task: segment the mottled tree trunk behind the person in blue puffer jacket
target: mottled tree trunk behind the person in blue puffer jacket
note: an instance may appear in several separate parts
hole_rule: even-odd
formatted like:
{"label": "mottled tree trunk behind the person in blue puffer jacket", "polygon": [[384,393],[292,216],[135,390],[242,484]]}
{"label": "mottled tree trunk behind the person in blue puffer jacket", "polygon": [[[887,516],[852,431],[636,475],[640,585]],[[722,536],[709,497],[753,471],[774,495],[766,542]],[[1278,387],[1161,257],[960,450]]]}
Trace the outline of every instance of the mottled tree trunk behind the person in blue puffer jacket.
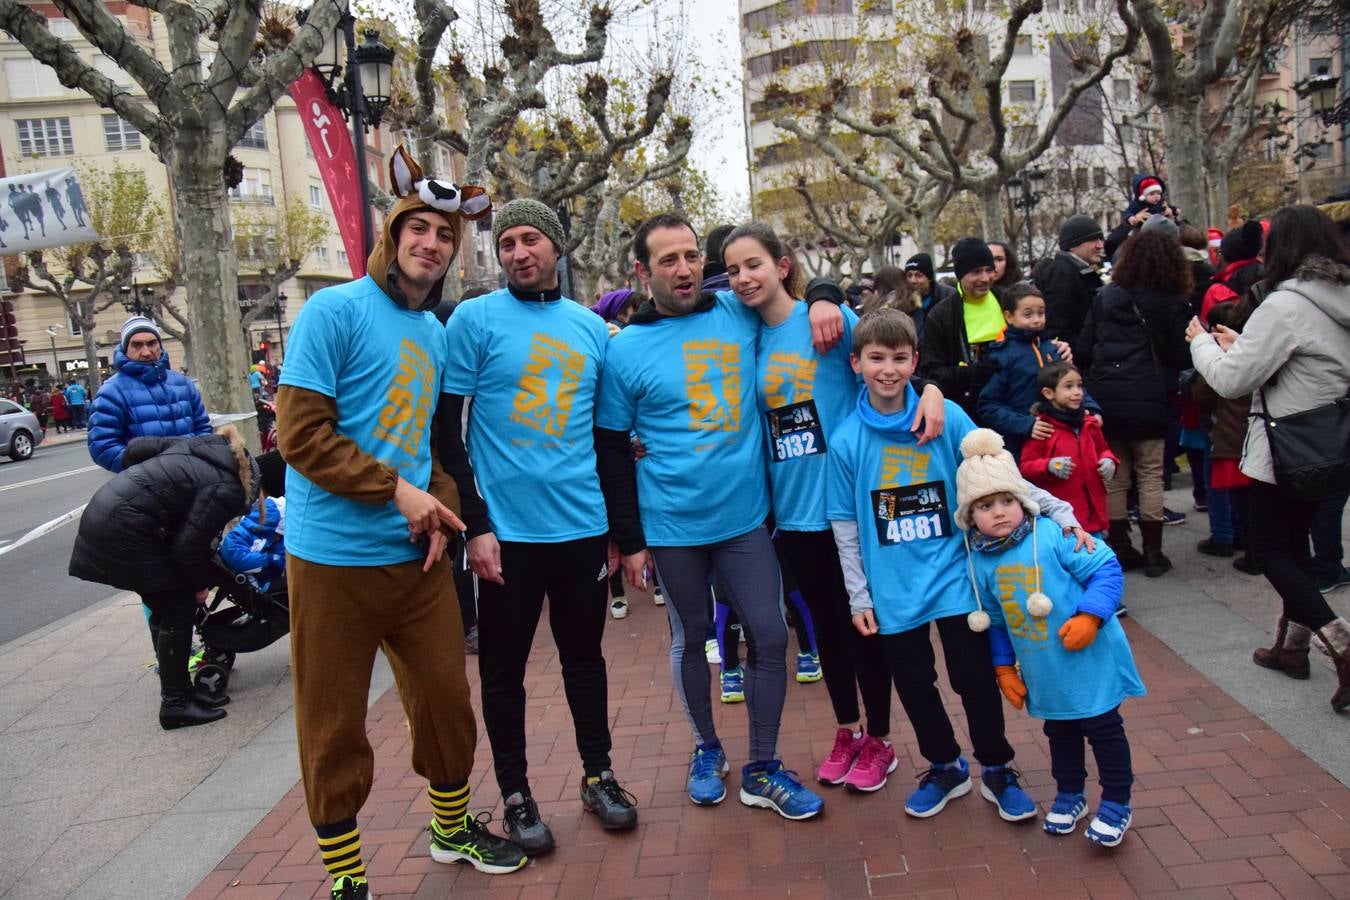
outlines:
{"label": "mottled tree trunk behind the person in blue puffer jacket", "polygon": [[[221,177],[224,123],[211,123],[209,135],[182,135],[166,151],[173,173],[173,204],[188,322],[193,336],[192,374],[211,413],[252,410],[248,352],[239,328],[239,271],[230,228],[230,197]],[[250,447],[258,447],[258,422],[239,422]]]}

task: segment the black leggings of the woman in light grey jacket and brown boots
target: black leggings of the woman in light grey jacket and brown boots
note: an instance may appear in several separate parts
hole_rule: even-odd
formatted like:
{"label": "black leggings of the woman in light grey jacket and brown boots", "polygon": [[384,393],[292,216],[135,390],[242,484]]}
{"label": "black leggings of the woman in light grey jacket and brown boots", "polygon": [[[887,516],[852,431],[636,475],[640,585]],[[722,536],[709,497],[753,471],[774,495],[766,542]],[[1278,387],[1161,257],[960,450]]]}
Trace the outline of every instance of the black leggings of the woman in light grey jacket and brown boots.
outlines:
{"label": "black leggings of the woman in light grey jacket and brown boots", "polygon": [[1336,618],[1312,575],[1308,536],[1316,501],[1300,501],[1278,484],[1251,482],[1247,549],[1284,600],[1284,615],[1318,630]]}

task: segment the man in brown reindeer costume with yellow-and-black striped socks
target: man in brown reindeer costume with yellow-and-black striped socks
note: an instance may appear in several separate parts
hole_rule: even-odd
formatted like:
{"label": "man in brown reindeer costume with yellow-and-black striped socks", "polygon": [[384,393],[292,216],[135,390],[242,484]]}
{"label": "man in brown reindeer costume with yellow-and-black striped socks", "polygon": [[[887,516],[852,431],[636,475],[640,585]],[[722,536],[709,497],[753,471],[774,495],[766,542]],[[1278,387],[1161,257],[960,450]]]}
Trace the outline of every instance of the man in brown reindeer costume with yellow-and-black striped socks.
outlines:
{"label": "man in brown reindeer costume with yellow-and-black striped socks", "polygon": [[366,702],[375,649],[398,683],[413,769],[429,784],[431,855],[487,873],[525,865],[516,845],[468,814],[477,726],[463,629],[443,559],[463,524],[455,483],[432,449],[446,390],[444,332],[431,309],[464,220],[491,204],[479,188],[424,178],[398,148],[400,200],[369,274],[305,304],[277,394],[286,479],[286,556],[296,731],[309,819],[332,896],[367,897],[356,812],[374,753]]}

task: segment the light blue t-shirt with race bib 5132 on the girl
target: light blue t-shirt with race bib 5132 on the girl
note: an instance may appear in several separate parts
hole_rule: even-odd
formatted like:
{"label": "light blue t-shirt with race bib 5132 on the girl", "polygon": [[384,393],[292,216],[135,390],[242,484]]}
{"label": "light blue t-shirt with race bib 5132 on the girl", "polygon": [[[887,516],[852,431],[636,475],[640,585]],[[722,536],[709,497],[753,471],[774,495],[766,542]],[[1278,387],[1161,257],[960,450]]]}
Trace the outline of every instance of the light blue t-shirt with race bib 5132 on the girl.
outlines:
{"label": "light blue t-shirt with race bib 5132 on the girl", "polygon": [[857,402],[849,366],[857,313],[844,313],[844,339],[824,356],[811,347],[806,304],[778,325],[760,325],[756,385],[768,447],[774,519],[788,532],[828,532],[825,456],[829,433]]}

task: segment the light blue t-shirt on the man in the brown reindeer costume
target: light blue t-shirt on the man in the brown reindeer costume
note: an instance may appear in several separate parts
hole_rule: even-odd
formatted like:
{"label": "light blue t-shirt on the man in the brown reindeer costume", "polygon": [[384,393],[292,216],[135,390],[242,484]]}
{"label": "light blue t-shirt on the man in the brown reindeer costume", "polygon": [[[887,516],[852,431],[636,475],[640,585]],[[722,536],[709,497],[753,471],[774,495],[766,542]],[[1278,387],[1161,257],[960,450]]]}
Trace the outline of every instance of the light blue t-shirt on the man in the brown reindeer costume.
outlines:
{"label": "light blue t-shirt on the man in the brown reindeer costume", "polygon": [[[292,325],[281,383],[338,401],[338,433],[413,487],[431,484],[432,413],[446,336],[429,312],[397,305],[369,275],[310,297]],[[393,565],[420,559],[408,519],[329,494],[286,471],[286,549],[323,565]]]}

